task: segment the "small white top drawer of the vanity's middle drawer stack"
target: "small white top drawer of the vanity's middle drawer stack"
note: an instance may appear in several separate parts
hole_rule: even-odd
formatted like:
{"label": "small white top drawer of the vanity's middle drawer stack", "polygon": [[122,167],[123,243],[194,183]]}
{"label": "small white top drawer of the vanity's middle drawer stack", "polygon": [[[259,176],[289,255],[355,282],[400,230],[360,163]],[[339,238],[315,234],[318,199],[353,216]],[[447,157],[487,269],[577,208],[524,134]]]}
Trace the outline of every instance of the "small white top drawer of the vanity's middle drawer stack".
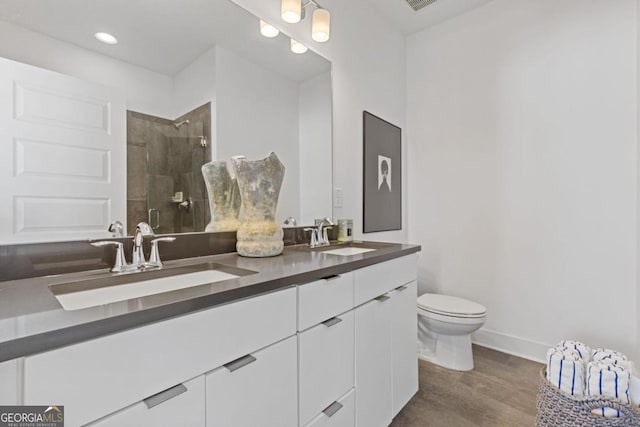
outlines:
{"label": "small white top drawer of the vanity's middle drawer stack", "polygon": [[298,286],[298,330],[353,308],[353,273]]}

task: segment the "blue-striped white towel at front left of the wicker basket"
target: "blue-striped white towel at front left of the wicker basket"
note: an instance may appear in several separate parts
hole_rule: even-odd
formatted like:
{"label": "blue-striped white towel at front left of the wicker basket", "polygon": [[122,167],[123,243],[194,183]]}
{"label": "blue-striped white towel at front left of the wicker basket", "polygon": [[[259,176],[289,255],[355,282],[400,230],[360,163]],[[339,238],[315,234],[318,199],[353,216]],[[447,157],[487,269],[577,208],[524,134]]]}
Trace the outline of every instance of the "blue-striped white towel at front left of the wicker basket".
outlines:
{"label": "blue-striped white towel at front left of the wicker basket", "polygon": [[570,349],[550,348],[547,351],[547,380],[572,396],[584,395],[584,362]]}

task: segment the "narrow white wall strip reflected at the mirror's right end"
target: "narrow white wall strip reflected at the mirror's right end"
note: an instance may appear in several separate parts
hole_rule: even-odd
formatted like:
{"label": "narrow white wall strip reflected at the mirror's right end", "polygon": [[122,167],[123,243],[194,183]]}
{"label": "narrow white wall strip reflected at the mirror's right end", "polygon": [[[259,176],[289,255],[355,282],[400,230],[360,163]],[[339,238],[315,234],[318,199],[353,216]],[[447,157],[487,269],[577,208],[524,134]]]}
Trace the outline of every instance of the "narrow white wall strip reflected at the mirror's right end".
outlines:
{"label": "narrow white wall strip reflected at the mirror's right end", "polygon": [[[325,73],[298,87],[300,116],[300,217],[313,224],[331,216],[331,74]],[[329,185],[324,185],[328,183]]]}

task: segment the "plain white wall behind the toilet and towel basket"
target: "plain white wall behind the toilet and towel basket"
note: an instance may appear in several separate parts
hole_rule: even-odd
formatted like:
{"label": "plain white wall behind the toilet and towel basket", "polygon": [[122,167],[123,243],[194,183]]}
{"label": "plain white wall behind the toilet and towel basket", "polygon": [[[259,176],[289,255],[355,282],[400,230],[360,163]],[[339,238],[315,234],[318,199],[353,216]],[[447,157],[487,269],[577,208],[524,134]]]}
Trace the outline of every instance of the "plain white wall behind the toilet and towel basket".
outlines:
{"label": "plain white wall behind the toilet and towel basket", "polygon": [[636,0],[495,0],[407,40],[421,291],[488,309],[480,343],[634,354]]}

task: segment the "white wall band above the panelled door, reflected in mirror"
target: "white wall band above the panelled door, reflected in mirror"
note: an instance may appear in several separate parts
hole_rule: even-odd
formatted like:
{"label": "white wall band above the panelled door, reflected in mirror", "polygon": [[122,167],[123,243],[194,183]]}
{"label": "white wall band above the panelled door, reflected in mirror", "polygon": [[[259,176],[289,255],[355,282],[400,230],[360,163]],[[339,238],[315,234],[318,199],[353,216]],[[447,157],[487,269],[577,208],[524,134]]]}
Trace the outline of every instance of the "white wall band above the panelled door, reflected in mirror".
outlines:
{"label": "white wall band above the panelled door, reflected in mirror", "polygon": [[122,89],[127,109],[171,117],[173,79],[0,21],[0,57]]}

